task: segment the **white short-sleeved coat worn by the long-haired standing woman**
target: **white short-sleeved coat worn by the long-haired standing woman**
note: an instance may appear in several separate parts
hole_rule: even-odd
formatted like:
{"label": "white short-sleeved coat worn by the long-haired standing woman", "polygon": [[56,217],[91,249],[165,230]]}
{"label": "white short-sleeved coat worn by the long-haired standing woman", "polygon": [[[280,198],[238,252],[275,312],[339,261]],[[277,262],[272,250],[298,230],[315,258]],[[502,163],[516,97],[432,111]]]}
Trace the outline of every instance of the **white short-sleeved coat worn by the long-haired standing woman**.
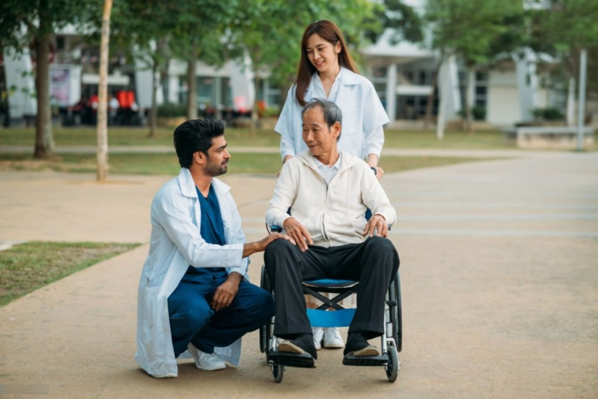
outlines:
{"label": "white short-sleeved coat worn by the long-haired standing woman", "polygon": [[[330,98],[343,113],[339,151],[361,159],[371,153],[380,158],[384,144],[382,127],[389,122],[386,111],[370,80],[344,67],[341,69],[339,91],[334,98]],[[284,107],[274,128],[281,135],[280,155],[283,160],[286,155],[295,156],[307,149],[303,142],[303,107],[297,103],[295,87],[296,85],[292,85],[288,90]],[[306,90],[305,100],[309,102],[313,97],[312,79]]]}

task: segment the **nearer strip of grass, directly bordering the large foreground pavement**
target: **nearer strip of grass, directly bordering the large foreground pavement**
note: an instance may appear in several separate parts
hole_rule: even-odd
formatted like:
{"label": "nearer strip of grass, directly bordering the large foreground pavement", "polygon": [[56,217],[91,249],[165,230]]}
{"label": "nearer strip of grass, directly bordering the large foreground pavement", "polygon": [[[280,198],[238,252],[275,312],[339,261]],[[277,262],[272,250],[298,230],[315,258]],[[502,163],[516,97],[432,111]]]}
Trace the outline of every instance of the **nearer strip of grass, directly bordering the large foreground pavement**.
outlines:
{"label": "nearer strip of grass, directly bordering the large foreground pavement", "polygon": [[[427,156],[383,157],[380,166],[385,173],[408,169],[475,162],[489,158],[451,158]],[[133,153],[109,155],[110,173],[141,175],[176,175],[180,170],[176,155],[165,153]],[[278,154],[237,153],[228,165],[228,173],[274,174],[281,167]],[[61,155],[51,160],[32,160],[26,154],[0,154],[0,171],[61,171],[95,173],[95,155]]]}

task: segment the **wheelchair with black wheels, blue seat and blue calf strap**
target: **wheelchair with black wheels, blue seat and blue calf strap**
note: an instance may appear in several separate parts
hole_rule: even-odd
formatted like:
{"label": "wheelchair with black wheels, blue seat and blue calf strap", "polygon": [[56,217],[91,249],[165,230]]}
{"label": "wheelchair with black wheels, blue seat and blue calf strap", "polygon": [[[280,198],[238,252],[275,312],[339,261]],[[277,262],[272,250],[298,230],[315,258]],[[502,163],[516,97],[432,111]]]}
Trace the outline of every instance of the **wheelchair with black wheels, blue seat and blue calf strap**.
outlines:
{"label": "wheelchair with black wheels, blue seat and blue calf strap", "polygon": [[[303,281],[303,294],[310,294],[323,304],[317,309],[308,309],[308,318],[313,327],[348,327],[353,319],[355,309],[345,309],[341,301],[356,292],[358,281],[321,279],[317,281]],[[266,266],[261,267],[261,288],[273,294],[268,279]],[[337,294],[328,298],[323,293]],[[329,308],[334,311],[328,311]],[[275,382],[281,382],[285,367],[311,367],[306,361],[309,355],[288,354],[277,352],[277,337],[273,334],[274,317],[259,329],[259,345],[261,353],[266,354],[266,361],[274,376]],[[348,366],[384,366],[389,382],[396,381],[401,363],[398,352],[402,345],[401,320],[401,277],[397,271],[392,279],[385,301],[385,329],[381,336],[380,356],[345,356],[343,365]]]}

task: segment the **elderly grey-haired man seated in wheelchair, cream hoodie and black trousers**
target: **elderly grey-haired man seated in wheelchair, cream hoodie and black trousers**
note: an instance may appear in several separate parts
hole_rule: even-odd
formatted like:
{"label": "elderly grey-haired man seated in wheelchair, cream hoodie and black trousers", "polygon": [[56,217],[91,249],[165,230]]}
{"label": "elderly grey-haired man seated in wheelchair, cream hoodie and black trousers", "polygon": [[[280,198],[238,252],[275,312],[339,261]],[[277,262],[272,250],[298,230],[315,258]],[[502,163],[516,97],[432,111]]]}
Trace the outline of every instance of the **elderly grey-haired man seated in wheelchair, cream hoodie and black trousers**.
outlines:
{"label": "elderly grey-haired man seated in wheelchair, cream hoodie and black trousers", "polygon": [[[387,291],[399,266],[398,253],[386,238],[396,213],[370,166],[339,151],[341,118],[328,100],[306,105],[302,120],[308,150],[284,164],[266,213],[268,225],[281,226],[295,240],[295,245],[273,241],[264,252],[266,283],[275,294],[273,334],[281,365],[314,367],[317,351],[302,283],[319,279],[359,282],[345,360],[381,355],[368,340],[385,333]],[[366,220],[368,208],[372,217]]]}

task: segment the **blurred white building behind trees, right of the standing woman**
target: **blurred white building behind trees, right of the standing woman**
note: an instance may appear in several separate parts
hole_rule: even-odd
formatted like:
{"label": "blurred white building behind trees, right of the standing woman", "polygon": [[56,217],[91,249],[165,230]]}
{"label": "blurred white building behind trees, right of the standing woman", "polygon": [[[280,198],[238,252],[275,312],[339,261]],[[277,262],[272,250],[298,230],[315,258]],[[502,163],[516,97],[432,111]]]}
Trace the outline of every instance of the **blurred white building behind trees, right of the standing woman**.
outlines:
{"label": "blurred white building behind trees, right of the standing woman", "polygon": [[[425,0],[407,0],[406,3],[423,14]],[[361,50],[368,74],[392,121],[423,119],[433,90],[438,53],[407,41],[391,45],[390,34],[385,32],[377,43]],[[512,126],[533,120],[531,111],[536,108],[557,107],[565,114],[566,87],[550,87],[548,75],[537,72],[539,61],[552,62],[540,60],[533,52],[526,51],[520,59],[509,57],[500,67],[480,69],[468,76],[458,61],[450,58],[442,65],[437,86],[438,91],[447,90],[446,119],[460,118],[459,112],[466,107],[468,79],[469,108],[484,108],[485,120],[491,125]],[[433,115],[438,114],[438,98],[436,95]]]}

